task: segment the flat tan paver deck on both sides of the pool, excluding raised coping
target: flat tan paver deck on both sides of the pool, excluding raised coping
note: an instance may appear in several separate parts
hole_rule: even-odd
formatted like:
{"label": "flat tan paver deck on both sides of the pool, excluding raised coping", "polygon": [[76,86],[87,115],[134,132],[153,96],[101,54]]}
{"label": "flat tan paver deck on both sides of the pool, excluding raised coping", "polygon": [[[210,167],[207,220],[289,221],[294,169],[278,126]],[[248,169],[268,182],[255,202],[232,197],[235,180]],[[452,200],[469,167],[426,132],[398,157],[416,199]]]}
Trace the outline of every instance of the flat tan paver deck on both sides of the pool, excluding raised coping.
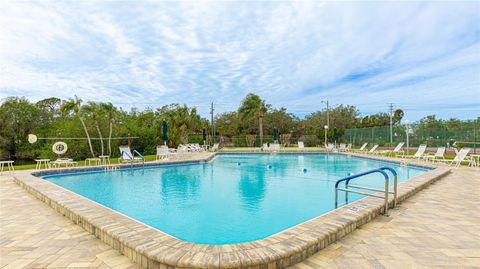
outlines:
{"label": "flat tan paver deck on both sides of the pool, excluding raised coping", "polygon": [[[480,268],[480,170],[458,169],[294,268]],[[138,268],[0,177],[0,267]]]}

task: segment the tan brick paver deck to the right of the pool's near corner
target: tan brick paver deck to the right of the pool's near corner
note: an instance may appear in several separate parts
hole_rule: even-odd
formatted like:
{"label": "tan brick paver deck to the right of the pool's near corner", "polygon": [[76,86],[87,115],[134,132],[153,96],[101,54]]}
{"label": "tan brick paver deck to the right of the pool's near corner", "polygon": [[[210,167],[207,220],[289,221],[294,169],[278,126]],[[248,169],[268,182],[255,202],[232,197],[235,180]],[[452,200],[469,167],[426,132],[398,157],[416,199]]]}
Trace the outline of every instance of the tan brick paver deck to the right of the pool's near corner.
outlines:
{"label": "tan brick paver deck to the right of the pool's near corner", "polygon": [[480,268],[480,170],[454,169],[291,268]]}

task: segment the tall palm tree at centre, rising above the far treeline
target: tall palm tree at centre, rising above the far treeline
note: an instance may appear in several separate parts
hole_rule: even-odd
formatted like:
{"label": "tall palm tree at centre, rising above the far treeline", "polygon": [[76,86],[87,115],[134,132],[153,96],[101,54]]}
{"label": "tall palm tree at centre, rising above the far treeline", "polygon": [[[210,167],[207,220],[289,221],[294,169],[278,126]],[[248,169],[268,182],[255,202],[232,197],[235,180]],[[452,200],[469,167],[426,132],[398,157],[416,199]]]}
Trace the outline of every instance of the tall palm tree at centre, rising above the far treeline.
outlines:
{"label": "tall palm tree at centre, rising above the far treeline", "polygon": [[258,118],[258,132],[260,135],[260,145],[263,144],[263,118],[267,113],[269,105],[265,104],[265,100],[262,100],[260,96],[249,93],[243,99],[240,108],[238,109],[238,114],[242,121],[245,121],[248,118]]}

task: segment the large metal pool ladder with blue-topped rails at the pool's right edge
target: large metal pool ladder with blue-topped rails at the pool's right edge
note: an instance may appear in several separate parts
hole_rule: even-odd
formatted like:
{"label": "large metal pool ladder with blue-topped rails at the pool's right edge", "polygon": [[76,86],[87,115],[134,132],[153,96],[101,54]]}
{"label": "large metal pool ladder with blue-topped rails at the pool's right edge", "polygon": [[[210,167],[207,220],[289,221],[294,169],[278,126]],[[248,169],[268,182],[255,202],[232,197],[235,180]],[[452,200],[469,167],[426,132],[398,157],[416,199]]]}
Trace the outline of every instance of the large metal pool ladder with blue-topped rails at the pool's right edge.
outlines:
{"label": "large metal pool ladder with blue-topped rails at the pool's right edge", "polygon": [[[385,170],[387,171],[390,171],[393,175],[393,191],[389,191],[389,187],[390,187],[390,178],[388,176],[388,174],[385,172]],[[365,186],[360,186],[360,185],[353,185],[353,184],[350,184],[350,181],[355,179],[355,178],[359,178],[359,177],[362,177],[362,176],[366,176],[366,175],[370,175],[370,174],[374,174],[374,173],[379,173],[379,174],[382,174],[383,175],[383,178],[385,179],[385,188],[382,190],[382,189],[376,189],[376,188],[370,188],[370,187],[365,187]],[[395,207],[397,205],[397,192],[398,192],[398,188],[397,188],[397,179],[398,179],[398,176],[397,176],[397,172],[393,169],[393,168],[390,168],[390,167],[380,167],[378,169],[373,169],[373,170],[370,170],[370,171],[366,171],[366,172],[363,172],[363,173],[360,173],[360,174],[356,174],[356,175],[351,175],[351,176],[348,176],[348,177],[345,177],[345,178],[342,178],[342,179],[339,179],[337,180],[337,182],[335,183],[335,208],[338,207],[338,191],[343,191],[345,192],[345,204],[344,205],[347,205],[348,204],[348,193],[352,192],[352,193],[357,193],[357,194],[362,194],[362,195],[366,195],[366,196],[371,196],[371,197],[375,197],[375,198],[380,198],[380,199],[384,199],[384,211],[383,213],[385,215],[388,214],[388,195],[389,194],[393,194],[393,207]],[[339,188],[339,185],[340,183],[342,182],[345,182],[345,187],[344,188]],[[353,188],[354,190],[352,190],[351,188]],[[363,192],[363,191],[358,191],[356,189],[359,189],[359,190],[369,190],[369,191],[376,191],[376,192],[382,192],[383,195],[378,195],[378,194],[375,194],[375,193],[368,193],[368,192]]]}

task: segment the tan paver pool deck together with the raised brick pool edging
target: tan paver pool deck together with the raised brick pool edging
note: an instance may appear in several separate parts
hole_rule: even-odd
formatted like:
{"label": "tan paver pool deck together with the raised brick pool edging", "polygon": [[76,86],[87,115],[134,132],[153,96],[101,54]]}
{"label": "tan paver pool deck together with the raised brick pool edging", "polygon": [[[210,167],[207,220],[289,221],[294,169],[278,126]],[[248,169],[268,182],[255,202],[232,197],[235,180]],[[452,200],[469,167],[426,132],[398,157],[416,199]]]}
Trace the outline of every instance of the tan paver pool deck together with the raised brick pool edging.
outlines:
{"label": "tan paver pool deck together with the raised brick pool edging", "polygon": [[[420,189],[427,190],[401,203],[399,209],[390,210],[390,217],[380,216],[365,224],[381,211],[378,200],[365,198],[357,202],[367,205],[366,209],[351,210],[355,202],[337,210],[342,218],[327,214],[327,218],[315,218],[267,239],[230,246],[181,242],[111,210],[108,212],[91,201],[83,198],[79,201],[77,195],[51,184],[45,185],[38,178],[25,179],[31,171],[17,172],[17,184],[68,218],[27,194],[11,177],[1,177],[0,267],[35,268],[37,264],[37,268],[136,268],[130,259],[145,268],[167,268],[164,262],[168,267],[179,268],[280,268],[311,255],[295,267],[358,268],[358,265],[365,265],[360,267],[393,268],[406,264],[407,268],[408,265],[420,268],[445,264],[451,268],[477,265],[480,240],[475,224],[480,215],[476,192],[480,187],[480,170],[460,168],[448,175],[445,170],[443,167],[436,170],[438,178],[419,177],[400,185],[400,194],[405,196],[403,199]],[[440,179],[440,174],[443,179],[430,185]],[[428,196],[432,192],[434,195]],[[96,213],[82,217],[75,212],[82,215]],[[112,213],[107,216],[108,220],[105,212],[107,215]],[[365,225],[360,227],[362,224]],[[132,235],[132,230],[124,229],[132,225],[149,240],[142,241],[144,238],[138,237],[139,234]],[[323,239],[313,238],[313,235]],[[132,237],[133,242],[124,241]],[[159,248],[159,243],[163,247]],[[325,249],[320,250],[322,248]],[[318,250],[320,252],[315,254]],[[119,251],[129,259],[121,256]],[[154,251],[156,256],[148,255],[148,251]],[[292,255],[280,256],[281,253]],[[155,263],[151,259],[160,261]]]}

